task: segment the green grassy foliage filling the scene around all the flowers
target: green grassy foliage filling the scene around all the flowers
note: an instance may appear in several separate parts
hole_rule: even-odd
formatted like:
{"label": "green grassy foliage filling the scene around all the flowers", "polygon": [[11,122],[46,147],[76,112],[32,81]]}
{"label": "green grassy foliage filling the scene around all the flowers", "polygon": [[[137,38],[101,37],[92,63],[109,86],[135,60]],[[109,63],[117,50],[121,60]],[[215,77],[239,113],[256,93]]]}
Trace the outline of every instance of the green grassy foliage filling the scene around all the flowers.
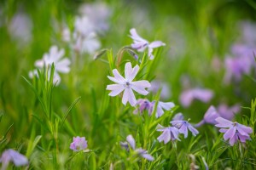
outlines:
{"label": "green grassy foliage filling the scene around all the flowers", "polygon": [[[224,84],[224,58],[239,39],[240,20],[255,20],[253,1],[107,1],[113,16],[110,29],[98,35],[102,49],[82,54],[73,44],[61,40],[61,31],[74,28],[81,1],[4,1],[0,3],[0,153],[12,148],[29,159],[27,169],[255,169],[256,99],[255,70],[241,82]],[[110,10],[110,9],[109,9]],[[31,42],[19,42],[9,32],[11,19],[24,11],[32,19]],[[206,13],[207,11],[207,13]],[[141,19],[142,18],[142,19]],[[149,42],[161,40],[165,47],[148,51],[131,48],[127,36],[135,27]],[[73,36],[73,35],[72,35]],[[44,65],[37,76],[28,78],[36,59],[51,45],[65,49],[70,72],[55,82],[58,65]],[[171,48],[171,49],[170,49]],[[255,52],[254,52],[255,53]],[[218,58],[220,65],[213,65]],[[255,55],[254,55],[255,57]],[[163,88],[137,99],[173,101],[176,106],[163,116],[123,105],[122,94],[109,96],[107,76],[113,69],[125,75],[125,63],[140,67],[135,81],[166,82],[172,96]],[[213,64],[212,64],[213,63]],[[218,68],[217,68],[218,67]],[[58,84],[60,83],[60,84]],[[57,86],[58,85],[58,86]],[[211,88],[214,98],[204,104],[195,101],[188,108],[178,106],[186,88]],[[199,127],[199,135],[167,144],[158,141],[158,124],[168,127],[175,114],[183,112],[192,124],[201,121],[210,105],[241,104],[236,122],[253,128],[250,140],[230,146],[223,133],[210,124]],[[148,150],[154,161],[137,151],[121,147],[132,134],[137,148]],[[85,137],[88,148],[70,149],[73,137]],[[16,168],[12,163],[9,168]]]}

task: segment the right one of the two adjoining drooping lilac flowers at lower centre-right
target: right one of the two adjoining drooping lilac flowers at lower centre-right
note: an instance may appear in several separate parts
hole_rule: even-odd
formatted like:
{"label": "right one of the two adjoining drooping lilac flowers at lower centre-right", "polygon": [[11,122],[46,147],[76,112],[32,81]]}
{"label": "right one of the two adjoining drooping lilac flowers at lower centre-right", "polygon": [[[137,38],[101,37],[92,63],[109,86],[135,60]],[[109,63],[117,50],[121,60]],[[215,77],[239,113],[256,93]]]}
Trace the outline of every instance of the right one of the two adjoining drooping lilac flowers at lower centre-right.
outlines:
{"label": "right one of the two adjoining drooping lilac flowers at lower centre-right", "polygon": [[184,134],[184,138],[188,137],[188,129],[193,136],[199,133],[188,121],[171,121],[171,123],[174,127],[177,127],[179,133]]}

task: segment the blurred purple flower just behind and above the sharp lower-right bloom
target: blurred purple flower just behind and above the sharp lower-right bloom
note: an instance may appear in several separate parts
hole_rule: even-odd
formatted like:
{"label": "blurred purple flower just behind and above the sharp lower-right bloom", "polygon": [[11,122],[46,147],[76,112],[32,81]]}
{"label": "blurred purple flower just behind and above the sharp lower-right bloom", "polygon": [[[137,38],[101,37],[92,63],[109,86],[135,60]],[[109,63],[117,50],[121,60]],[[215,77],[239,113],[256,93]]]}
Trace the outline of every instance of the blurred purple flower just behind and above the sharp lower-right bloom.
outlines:
{"label": "blurred purple flower just behind and above the sharp lower-right bloom", "polygon": [[228,106],[225,104],[218,105],[218,114],[224,119],[232,120],[236,113],[241,110],[241,106],[239,104]]}

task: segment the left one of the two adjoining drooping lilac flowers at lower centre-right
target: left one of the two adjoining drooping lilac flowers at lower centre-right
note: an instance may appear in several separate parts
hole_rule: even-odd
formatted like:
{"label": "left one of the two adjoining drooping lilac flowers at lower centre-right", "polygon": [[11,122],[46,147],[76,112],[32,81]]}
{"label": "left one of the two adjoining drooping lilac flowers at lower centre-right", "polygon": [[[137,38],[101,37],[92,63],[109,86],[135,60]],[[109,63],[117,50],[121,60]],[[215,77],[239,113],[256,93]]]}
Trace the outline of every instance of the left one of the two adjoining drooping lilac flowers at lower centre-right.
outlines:
{"label": "left one of the two adjoining drooping lilac flowers at lower centre-right", "polygon": [[177,127],[163,127],[160,124],[157,125],[156,131],[163,132],[157,139],[159,142],[164,141],[164,143],[168,143],[170,140],[180,140],[178,139],[179,131]]}

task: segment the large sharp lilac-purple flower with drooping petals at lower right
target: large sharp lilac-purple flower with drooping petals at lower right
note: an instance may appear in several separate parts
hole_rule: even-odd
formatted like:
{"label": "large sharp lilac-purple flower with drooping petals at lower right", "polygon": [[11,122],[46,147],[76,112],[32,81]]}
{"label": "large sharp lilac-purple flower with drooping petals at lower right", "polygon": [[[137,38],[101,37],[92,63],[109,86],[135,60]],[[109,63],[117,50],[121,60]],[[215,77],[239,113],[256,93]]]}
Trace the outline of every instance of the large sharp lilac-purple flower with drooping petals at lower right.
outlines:
{"label": "large sharp lilac-purple flower with drooping petals at lower right", "polygon": [[230,139],[230,145],[233,146],[237,140],[241,143],[245,143],[247,139],[250,139],[249,133],[253,133],[251,127],[244,126],[238,122],[230,122],[222,117],[215,119],[218,124],[216,127],[221,127],[219,132],[224,133],[224,140]]}

